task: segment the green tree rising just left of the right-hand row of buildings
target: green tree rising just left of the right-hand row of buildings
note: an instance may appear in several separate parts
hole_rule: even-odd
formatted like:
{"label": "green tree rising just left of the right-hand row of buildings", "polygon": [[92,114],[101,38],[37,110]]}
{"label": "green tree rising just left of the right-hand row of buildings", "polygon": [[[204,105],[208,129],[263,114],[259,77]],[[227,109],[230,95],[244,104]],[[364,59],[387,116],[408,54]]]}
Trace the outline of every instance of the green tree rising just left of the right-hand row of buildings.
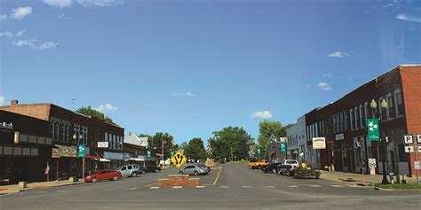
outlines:
{"label": "green tree rising just left of the right-hand row of buildings", "polygon": [[287,136],[286,128],[282,126],[281,121],[260,121],[258,123],[258,148],[261,154],[266,154],[266,146],[270,142],[272,135],[279,140],[280,137]]}

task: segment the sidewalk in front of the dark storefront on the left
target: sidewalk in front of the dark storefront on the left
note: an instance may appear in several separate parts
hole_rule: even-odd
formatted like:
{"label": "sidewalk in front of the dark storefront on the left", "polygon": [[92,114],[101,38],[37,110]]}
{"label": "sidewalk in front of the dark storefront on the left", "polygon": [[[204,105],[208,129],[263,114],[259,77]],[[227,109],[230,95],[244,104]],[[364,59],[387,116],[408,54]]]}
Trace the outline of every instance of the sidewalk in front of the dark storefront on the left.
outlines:
{"label": "sidewalk in front of the dark storefront on the left", "polygon": [[43,182],[43,183],[28,183],[27,188],[24,188],[24,189],[20,189],[19,184],[1,185],[0,195],[18,193],[20,191],[30,191],[30,190],[36,190],[36,189],[74,185],[74,184],[80,184],[80,183],[84,183],[84,182],[70,183],[68,180],[63,180],[63,181],[51,181],[51,182]]}

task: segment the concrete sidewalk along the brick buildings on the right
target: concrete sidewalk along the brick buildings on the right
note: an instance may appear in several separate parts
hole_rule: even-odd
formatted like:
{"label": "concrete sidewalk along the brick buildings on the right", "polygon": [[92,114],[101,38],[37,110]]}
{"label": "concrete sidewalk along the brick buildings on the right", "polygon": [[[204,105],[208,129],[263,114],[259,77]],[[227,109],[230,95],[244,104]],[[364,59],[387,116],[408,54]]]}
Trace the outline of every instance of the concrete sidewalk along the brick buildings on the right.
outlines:
{"label": "concrete sidewalk along the brick buildings on the right", "polygon": [[[346,172],[331,172],[331,171],[320,171],[322,175],[320,176],[321,179],[330,180],[330,181],[337,181],[342,183],[353,183],[356,185],[361,186],[369,186],[371,185],[371,175],[361,175],[355,173],[346,173]],[[373,175],[374,176],[374,183],[381,183],[383,179],[383,175]],[[396,183],[396,176],[393,176],[394,183]],[[402,176],[401,176],[402,179]],[[389,180],[389,175],[387,175],[387,180]],[[405,176],[405,180],[407,183],[417,183],[416,177],[408,177]]]}

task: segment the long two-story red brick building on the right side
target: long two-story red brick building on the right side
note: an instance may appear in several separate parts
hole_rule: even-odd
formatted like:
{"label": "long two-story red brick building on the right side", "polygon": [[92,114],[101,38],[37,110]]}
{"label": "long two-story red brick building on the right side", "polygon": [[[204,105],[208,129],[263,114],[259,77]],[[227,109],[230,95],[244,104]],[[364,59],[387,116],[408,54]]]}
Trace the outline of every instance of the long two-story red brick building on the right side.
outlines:
{"label": "long two-story red brick building on the right side", "polygon": [[[421,66],[397,66],[358,89],[322,108],[306,113],[307,145],[311,149],[313,137],[325,137],[325,150],[320,154],[318,167],[334,166],[336,170],[367,172],[369,158],[377,159],[377,173],[387,172],[414,175],[415,153],[404,152],[402,136],[421,134]],[[370,107],[371,100],[377,109]],[[386,109],[380,106],[385,99]],[[367,139],[367,119],[379,118],[380,136],[386,139],[386,156],[380,142]],[[383,157],[385,156],[385,157]],[[421,159],[419,155],[418,159]]]}

